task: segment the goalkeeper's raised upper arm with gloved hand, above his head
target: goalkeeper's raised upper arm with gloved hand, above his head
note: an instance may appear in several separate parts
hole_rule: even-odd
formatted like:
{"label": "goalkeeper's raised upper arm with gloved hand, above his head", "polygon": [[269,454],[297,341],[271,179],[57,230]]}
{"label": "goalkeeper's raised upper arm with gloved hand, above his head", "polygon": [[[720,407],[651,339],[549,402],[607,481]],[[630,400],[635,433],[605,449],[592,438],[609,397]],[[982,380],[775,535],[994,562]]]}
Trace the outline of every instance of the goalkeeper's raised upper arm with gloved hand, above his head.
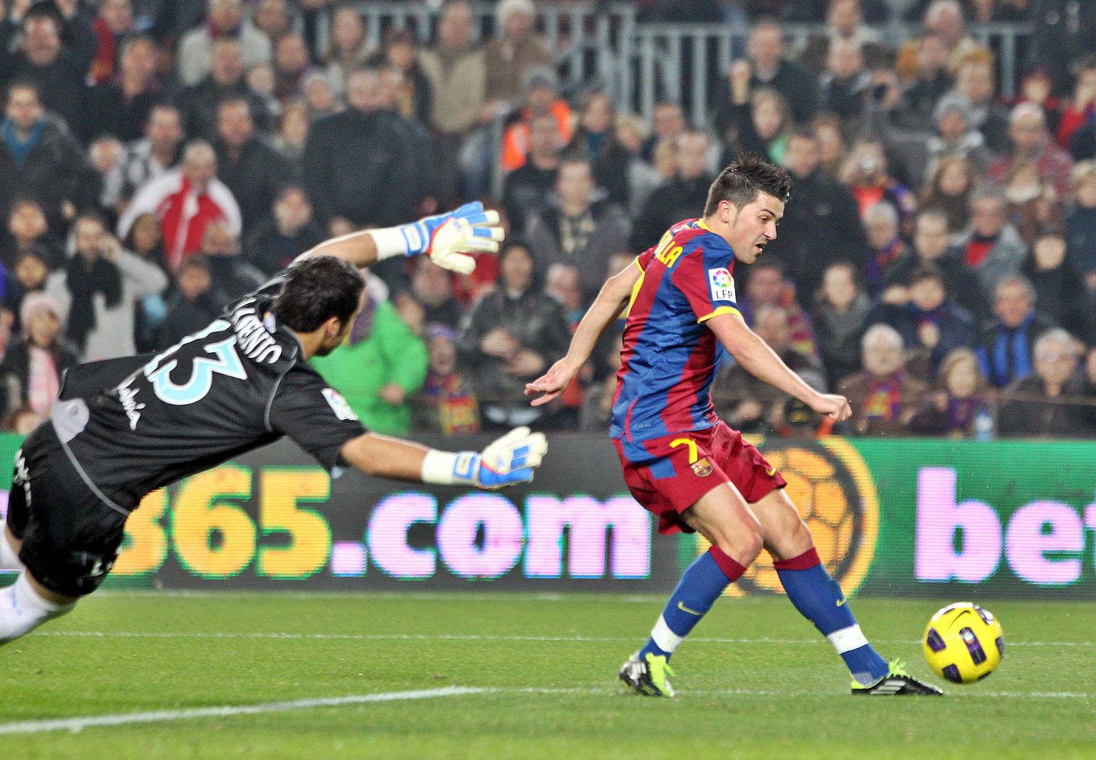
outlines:
{"label": "goalkeeper's raised upper arm with gloved hand, above his head", "polygon": [[483,204],[465,204],[455,211],[425,217],[410,224],[351,232],[327,240],[307,256],[335,256],[364,267],[393,256],[426,254],[446,269],[471,274],[476,260],[469,253],[498,253],[503,230],[499,212],[484,211]]}

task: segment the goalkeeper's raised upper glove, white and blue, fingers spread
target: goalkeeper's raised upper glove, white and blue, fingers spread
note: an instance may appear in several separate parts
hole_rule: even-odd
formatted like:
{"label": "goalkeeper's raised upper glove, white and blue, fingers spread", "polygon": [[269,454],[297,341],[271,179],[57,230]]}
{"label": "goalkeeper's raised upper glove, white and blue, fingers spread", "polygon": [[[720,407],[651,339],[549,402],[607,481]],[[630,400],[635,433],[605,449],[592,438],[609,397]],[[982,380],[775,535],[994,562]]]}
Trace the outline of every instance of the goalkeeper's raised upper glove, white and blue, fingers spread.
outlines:
{"label": "goalkeeper's raised upper glove, white and blue, fingers spread", "polygon": [[468,253],[498,253],[503,230],[498,211],[484,211],[476,200],[448,214],[425,217],[396,229],[402,234],[408,256],[425,253],[438,266],[469,275],[476,260]]}

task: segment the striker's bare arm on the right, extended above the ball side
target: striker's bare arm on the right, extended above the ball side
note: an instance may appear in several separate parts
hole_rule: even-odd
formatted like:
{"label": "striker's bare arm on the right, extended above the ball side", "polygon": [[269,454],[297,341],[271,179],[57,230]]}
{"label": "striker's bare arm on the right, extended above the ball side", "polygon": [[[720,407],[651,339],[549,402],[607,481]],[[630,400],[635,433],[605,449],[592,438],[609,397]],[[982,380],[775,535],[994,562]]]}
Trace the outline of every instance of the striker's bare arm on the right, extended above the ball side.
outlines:
{"label": "striker's bare arm on the right, extended above the ball side", "polygon": [[819,414],[837,422],[853,414],[848,399],[832,393],[819,393],[796,375],[738,313],[717,314],[706,320],[708,327],[747,372],[777,390],[799,399]]}

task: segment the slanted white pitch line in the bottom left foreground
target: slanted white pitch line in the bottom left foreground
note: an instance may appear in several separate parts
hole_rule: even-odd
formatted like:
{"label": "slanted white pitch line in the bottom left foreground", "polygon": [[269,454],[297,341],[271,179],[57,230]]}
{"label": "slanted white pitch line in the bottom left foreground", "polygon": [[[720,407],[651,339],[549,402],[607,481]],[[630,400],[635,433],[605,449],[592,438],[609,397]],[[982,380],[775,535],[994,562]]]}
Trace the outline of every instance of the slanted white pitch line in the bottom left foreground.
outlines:
{"label": "slanted white pitch line in the bottom left foreground", "polygon": [[187,707],[183,710],[153,710],[145,713],[83,715],[80,717],[64,717],[50,721],[21,721],[19,723],[0,724],[0,734],[42,734],[55,730],[80,732],[84,728],[93,726],[124,726],[133,723],[165,723],[170,721],[189,721],[197,717],[232,717],[236,715],[255,715],[259,713],[279,713],[289,710],[310,710],[312,707],[340,707],[347,704],[365,704],[369,702],[433,700],[441,696],[481,694],[486,691],[490,690],[475,687],[446,687],[444,689],[388,691],[374,694],[351,694],[350,696],[292,700],[289,702],[263,702],[260,704],[221,705],[217,707]]}

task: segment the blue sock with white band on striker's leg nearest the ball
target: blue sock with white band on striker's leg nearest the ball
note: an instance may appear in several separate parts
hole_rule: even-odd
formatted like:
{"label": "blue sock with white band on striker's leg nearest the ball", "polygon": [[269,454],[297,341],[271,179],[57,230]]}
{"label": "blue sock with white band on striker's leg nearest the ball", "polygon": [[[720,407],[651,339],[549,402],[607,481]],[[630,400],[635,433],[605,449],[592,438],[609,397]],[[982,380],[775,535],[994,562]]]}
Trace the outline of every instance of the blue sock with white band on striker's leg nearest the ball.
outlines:
{"label": "blue sock with white band on striker's leg nearest the ball", "polygon": [[790,560],[777,560],[774,564],[788,599],[830,640],[854,679],[868,684],[887,675],[886,660],[864,637],[841,586],[826,573],[813,548]]}

